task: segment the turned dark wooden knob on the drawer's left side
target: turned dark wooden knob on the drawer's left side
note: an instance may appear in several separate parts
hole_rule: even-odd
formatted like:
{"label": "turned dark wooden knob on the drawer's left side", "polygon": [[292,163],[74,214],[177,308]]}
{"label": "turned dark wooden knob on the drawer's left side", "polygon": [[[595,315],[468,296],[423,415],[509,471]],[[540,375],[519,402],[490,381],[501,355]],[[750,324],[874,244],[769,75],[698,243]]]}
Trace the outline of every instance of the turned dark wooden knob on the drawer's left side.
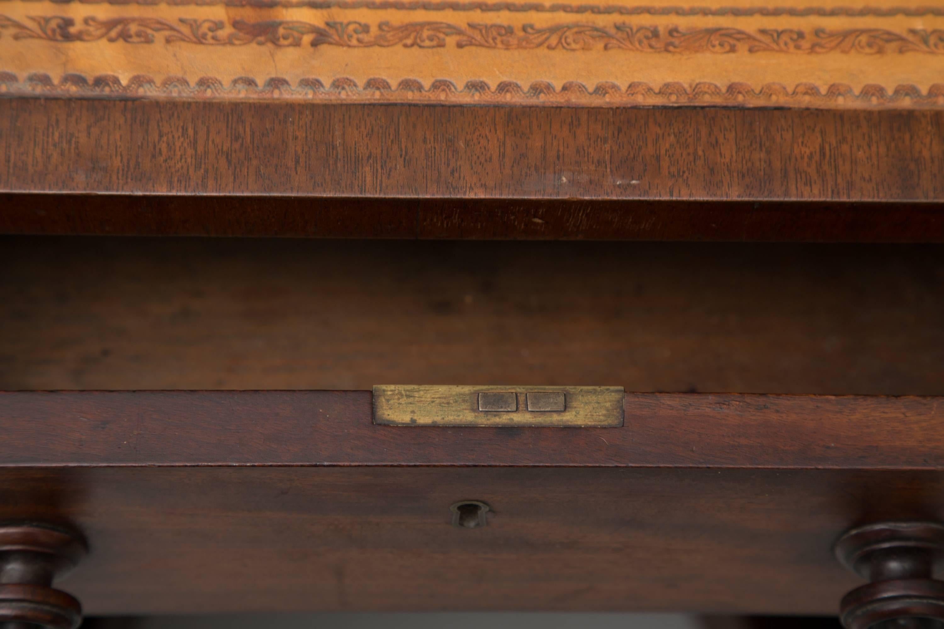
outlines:
{"label": "turned dark wooden knob on the drawer's left side", "polygon": [[85,552],[79,535],[58,526],[0,524],[0,629],[76,629],[81,605],[52,583]]}

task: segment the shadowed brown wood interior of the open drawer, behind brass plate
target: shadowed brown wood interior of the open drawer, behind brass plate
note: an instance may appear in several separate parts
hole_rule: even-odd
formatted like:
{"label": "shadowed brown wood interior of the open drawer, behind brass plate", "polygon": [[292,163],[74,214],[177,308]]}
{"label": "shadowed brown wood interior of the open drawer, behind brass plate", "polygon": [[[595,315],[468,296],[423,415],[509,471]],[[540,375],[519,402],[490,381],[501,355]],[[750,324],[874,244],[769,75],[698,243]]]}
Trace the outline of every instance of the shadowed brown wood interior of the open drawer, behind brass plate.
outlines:
{"label": "shadowed brown wood interior of the open drawer, behind brass plate", "polygon": [[934,245],[8,237],[0,389],[944,395]]}

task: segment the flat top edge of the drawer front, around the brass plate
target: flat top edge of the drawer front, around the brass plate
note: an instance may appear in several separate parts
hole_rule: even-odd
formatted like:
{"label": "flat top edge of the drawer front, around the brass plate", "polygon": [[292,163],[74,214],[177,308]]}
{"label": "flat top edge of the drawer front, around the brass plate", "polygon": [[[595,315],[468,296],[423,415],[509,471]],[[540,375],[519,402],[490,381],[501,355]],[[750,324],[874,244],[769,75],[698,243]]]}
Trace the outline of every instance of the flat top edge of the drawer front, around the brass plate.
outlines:
{"label": "flat top edge of the drawer front, around the brass plate", "polygon": [[7,466],[944,469],[940,397],[634,393],[618,428],[385,426],[370,391],[0,392]]}

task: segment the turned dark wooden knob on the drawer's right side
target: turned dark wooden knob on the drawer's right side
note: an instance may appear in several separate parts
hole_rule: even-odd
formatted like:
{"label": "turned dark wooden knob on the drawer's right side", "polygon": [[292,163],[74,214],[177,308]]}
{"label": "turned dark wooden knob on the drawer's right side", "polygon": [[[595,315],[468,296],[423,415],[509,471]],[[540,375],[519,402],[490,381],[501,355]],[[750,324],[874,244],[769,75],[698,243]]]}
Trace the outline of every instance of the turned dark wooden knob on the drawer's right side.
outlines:
{"label": "turned dark wooden knob on the drawer's right side", "polygon": [[944,524],[879,522],[835,544],[840,562],[870,583],[839,604],[846,629],[944,629]]}

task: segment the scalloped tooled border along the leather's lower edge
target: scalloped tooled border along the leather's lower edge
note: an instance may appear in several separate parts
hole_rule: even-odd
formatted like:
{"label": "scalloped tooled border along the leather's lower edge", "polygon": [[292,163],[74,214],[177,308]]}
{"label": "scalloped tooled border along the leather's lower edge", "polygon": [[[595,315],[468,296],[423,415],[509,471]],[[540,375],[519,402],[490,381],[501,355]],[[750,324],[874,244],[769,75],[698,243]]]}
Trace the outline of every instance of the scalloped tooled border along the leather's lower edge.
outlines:
{"label": "scalloped tooled border along the leather's lower edge", "polygon": [[350,78],[338,78],[328,87],[317,78],[304,78],[292,85],[272,77],[263,85],[243,76],[229,86],[211,76],[191,85],[182,76],[169,76],[160,83],[145,75],[132,76],[127,83],[113,74],[87,78],[65,74],[59,83],[48,74],[29,74],[22,82],[16,74],[0,72],[0,97],[52,96],[80,98],[182,98],[190,100],[294,100],[327,103],[436,103],[455,105],[548,105],[563,107],[708,106],[708,107],[791,107],[791,108],[944,108],[944,84],[936,83],[922,92],[914,85],[900,85],[889,93],[880,85],[867,85],[856,93],[848,85],[835,83],[825,92],[810,83],[788,91],[779,83],[767,83],[754,90],[746,83],[731,83],[721,89],[713,83],[697,83],[691,90],[681,83],[665,83],[653,88],[634,82],[625,89],[617,84],[599,83],[592,91],[570,81],[558,91],[546,81],[536,81],[524,90],[513,81],[502,81],[493,90],[484,81],[469,81],[458,90],[452,81],[440,79],[427,89],[416,79],[404,79],[396,88],[382,78],[372,78],[359,86]]}

